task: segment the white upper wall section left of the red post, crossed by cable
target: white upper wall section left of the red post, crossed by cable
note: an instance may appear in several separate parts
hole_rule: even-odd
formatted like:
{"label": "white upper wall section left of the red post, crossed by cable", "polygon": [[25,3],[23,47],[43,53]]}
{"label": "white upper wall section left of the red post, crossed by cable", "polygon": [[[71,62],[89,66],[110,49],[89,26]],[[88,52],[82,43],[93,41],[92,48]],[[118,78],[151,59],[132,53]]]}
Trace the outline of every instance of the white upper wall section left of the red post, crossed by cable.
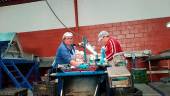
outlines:
{"label": "white upper wall section left of the red post, crossed by cable", "polygon": [[[56,15],[68,27],[74,26],[73,0],[49,0]],[[60,2],[60,3],[59,3]],[[0,32],[29,32],[64,28],[45,1],[0,7]]]}

